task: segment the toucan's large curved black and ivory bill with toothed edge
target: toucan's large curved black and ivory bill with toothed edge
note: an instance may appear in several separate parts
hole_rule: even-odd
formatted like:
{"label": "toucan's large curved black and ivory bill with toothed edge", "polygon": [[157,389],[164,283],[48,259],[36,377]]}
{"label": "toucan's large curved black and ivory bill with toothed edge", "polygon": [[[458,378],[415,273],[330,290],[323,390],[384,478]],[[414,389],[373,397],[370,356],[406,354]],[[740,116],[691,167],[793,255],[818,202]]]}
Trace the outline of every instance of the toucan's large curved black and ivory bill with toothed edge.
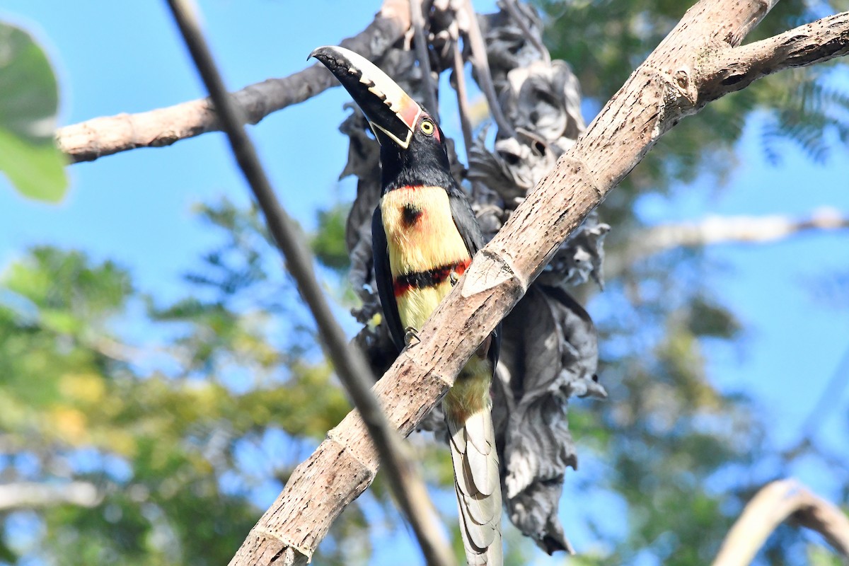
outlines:
{"label": "toucan's large curved black and ivory bill with toothed edge", "polygon": [[324,46],[310,57],[321,61],[351,93],[380,143],[388,137],[402,149],[409,147],[422,108],[395,81],[350,49]]}

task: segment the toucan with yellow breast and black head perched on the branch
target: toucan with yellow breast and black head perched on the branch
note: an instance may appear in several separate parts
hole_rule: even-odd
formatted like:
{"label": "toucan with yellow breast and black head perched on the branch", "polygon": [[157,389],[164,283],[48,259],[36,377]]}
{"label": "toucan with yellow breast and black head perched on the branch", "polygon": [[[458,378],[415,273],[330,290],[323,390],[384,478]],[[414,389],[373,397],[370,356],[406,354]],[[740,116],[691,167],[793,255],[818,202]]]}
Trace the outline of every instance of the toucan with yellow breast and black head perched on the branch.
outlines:
{"label": "toucan with yellow breast and black head perched on the branch", "polygon": [[[363,110],[380,143],[380,203],[372,217],[374,277],[398,352],[458,283],[485,244],[475,213],[454,180],[436,118],[375,64],[324,46],[318,59]],[[470,566],[501,566],[502,494],[490,385],[500,333],[475,351],[442,399],[454,470],[460,534]]]}

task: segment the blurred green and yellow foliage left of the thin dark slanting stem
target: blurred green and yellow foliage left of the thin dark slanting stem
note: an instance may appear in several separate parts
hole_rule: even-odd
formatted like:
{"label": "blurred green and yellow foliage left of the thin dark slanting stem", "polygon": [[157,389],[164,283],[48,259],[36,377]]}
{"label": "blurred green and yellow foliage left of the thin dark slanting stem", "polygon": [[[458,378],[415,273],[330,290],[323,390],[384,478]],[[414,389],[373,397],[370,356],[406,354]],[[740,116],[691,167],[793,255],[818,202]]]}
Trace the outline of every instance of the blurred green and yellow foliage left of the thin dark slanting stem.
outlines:
{"label": "blurred green and yellow foliage left of the thin dark slanting stem", "polygon": [[[204,215],[226,241],[188,276],[198,292],[171,305],[80,252],[32,249],[3,274],[0,477],[96,491],[0,508],[7,526],[29,518],[43,534],[26,546],[7,530],[5,561],[226,562],[261,513],[251,498],[279,490],[349,410],[312,331],[269,281],[256,215],[227,203]],[[128,344],[127,324],[158,339]],[[250,453],[283,441],[290,454],[257,470]],[[364,527],[352,509],[339,532]]]}

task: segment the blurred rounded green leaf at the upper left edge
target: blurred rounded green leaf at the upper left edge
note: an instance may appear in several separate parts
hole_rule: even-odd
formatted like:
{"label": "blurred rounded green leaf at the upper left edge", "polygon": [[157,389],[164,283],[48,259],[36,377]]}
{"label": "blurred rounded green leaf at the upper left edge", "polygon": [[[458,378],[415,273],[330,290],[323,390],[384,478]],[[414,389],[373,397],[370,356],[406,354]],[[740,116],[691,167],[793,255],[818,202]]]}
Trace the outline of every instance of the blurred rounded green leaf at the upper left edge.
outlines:
{"label": "blurred rounded green leaf at the upper left edge", "polygon": [[58,202],[65,195],[65,155],[53,143],[59,86],[44,50],[0,22],[0,171],[20,193]]}

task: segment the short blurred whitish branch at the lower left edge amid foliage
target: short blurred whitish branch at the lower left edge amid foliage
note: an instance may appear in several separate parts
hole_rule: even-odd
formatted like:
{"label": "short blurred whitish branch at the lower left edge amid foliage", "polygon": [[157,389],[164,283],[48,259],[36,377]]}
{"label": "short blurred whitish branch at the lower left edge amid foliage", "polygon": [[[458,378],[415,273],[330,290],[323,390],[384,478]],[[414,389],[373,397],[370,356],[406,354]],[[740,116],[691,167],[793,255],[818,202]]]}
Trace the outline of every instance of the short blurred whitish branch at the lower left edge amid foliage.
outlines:
{"label": "short blurred whitish branch at the lower left edge amid foliage", "polygon": [[0,485],[0,511],[70,504],[94,507],[103,499],[96,485],[86,481],[65,484],[16,482]]}

